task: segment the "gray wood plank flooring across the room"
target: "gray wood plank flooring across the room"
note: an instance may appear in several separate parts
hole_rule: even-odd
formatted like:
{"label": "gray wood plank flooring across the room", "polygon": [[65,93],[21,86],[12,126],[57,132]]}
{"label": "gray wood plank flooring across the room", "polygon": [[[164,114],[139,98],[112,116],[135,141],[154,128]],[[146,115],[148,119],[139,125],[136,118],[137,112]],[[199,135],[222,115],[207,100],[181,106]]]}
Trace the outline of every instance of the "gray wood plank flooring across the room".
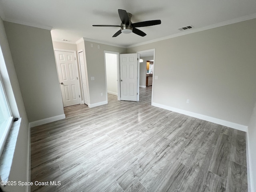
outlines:
{"label": "gray wood plank flooring across the room", "polygon": [[[64,108],[31,129],[32,192],[246,192],[245,133],[140,101]],[[60,181],[60,185],[50,185]]]}

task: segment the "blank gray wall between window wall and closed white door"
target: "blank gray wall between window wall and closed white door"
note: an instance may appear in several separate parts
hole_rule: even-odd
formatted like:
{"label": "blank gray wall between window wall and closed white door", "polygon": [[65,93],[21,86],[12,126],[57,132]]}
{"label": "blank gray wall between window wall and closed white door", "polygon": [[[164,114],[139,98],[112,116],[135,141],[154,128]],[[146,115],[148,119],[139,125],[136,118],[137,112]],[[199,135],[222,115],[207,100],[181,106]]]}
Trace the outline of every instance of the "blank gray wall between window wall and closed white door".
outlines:
{"label": "blank gray wall between window wall and closed white door", "polygon": [[64,114],[50,30],[4,22],[28,121]]}

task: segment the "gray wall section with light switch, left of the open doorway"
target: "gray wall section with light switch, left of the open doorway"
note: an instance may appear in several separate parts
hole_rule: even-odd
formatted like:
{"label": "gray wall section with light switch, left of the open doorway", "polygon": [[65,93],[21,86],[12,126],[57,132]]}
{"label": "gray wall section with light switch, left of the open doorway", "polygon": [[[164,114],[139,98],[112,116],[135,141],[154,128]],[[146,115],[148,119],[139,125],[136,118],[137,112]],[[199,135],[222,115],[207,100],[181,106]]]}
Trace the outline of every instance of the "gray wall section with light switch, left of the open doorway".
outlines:
{"label": "gray wall section with light switch, left of the open doorway", "polygon": [[[93,44],[93,47],[91,47]],[[100,48],[98,49],[98,45]],[[104,64],[104,50],[126,53],[126,48],[84,41],[86,65],[88,72],[90,104],[96,104],[106,101],[106,78]],[[91,80],[94,77],[94,80]],[[103,93],[103,96],[101,96]]]}

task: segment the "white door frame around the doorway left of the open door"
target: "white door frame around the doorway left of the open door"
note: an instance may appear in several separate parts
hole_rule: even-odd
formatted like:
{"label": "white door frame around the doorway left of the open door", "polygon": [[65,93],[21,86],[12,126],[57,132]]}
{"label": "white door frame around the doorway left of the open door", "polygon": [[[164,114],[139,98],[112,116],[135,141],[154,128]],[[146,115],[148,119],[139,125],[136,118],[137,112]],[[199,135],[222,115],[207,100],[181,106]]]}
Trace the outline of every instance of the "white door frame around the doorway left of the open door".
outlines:
{"label": "white door frame around the doorway left of the open door", "polygon": [[121,100],[121,90],[120,90],[120,53],[119,52],[114,52],[114,51],[106,51],[104,50],[104,64],[105,64],[105,82],[106,82],[106,101],[108,103],[108,87],[107,87],[107,72],[106,72],[106,53],[110,53],[110,54],[116,54],[117,55],[117,100],[120,101]]}

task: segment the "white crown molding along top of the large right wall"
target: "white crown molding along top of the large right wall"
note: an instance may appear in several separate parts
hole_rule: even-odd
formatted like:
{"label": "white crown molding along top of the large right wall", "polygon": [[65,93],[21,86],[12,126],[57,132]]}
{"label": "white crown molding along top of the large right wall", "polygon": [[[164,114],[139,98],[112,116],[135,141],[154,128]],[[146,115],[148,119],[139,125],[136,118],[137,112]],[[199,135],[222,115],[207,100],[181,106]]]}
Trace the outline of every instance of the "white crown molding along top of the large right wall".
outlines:
{"label": "white crown molding along top of the large right wall", "polygon": [[173,35],[170,35],[170,36],[157,38],[157,39],[154,39],[154,40],[150,40],[150,41],[130,45],[130,46],[127,46],[127,48],[146,45],[146,44],[150,44],[150,43],[154,43],[154,42],[158,42],[158,41],[162,41],[162,40],[166,40],[166,39],[170,39],[170,38],[175,38],[175,37],[178,37],[178,36],[183,36],[183,35],[187,35],[187,34],[191,34],[191,33],[196,33],[196,32],[200,32],[200,31],[204,31],[204,30],[208,30],[208,29],[212,29],[212,28],[216,28],[216,27],[221,27],[221,26],[225,26],[225,25],[229,25],[229,24],[234,24],[234,23],[238,23],[238,22],[242,22],[242,21],[246,21],[246,20],[250,20],[250,19],[255,19],[255,18],[256,18],[256,13],[251,14],[251,15],[247,15],[247,16],[243,16],[243,17],[240,17],[240,18],[220,22],[220,23],[217,23],[217,24],[212,24],[212,25],[209,25],[209,26],[201,27],[201,28],[193,28],[191,30],[180,32],[178,34],[173,34]]}

